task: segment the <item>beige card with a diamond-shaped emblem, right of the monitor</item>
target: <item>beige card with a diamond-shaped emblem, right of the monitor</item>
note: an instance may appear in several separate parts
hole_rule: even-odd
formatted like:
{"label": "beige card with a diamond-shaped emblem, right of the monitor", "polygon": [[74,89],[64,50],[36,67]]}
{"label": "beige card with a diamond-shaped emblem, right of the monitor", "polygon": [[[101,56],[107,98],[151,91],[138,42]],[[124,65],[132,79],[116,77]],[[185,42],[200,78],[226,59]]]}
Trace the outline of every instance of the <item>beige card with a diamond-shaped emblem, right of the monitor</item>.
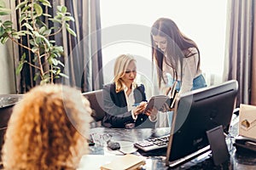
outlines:
{"label": "beige card with a diamond-shaped emblem, right of the monitor", "polygon": [[239,135],[256,139],[256,106],[240,105]]}

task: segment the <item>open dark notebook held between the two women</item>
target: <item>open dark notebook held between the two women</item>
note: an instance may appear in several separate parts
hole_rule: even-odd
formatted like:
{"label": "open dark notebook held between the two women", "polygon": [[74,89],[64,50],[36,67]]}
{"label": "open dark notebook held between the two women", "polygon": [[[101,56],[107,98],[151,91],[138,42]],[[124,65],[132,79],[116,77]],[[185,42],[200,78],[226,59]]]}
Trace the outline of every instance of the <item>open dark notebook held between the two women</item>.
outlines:
{"label": "open dark notebook held between the two women", "polygon": [[155,108],[157,111],[171,111],[174,107],[178,94],[176,84],[177,82],[175,81],[172,87],[170,87],[170,89],[166,92],[166,95],[156,95],[151,97],[144,112],[153,108]]}

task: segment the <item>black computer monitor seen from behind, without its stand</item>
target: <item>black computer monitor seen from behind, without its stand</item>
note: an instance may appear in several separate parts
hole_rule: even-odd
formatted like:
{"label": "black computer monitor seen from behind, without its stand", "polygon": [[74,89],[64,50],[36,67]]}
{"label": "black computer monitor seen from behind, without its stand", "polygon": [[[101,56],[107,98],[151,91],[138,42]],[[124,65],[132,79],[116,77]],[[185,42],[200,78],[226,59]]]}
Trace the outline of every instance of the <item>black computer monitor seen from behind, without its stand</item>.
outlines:
{"label": "black computer monitor seen from behind, without its stand", "polygon": [[222,125],[224,133],[229,133],[237,91],[237,81],[231,80],[178,96],[166,151],[167,166],[176,167],[210,150],[208,130]]}

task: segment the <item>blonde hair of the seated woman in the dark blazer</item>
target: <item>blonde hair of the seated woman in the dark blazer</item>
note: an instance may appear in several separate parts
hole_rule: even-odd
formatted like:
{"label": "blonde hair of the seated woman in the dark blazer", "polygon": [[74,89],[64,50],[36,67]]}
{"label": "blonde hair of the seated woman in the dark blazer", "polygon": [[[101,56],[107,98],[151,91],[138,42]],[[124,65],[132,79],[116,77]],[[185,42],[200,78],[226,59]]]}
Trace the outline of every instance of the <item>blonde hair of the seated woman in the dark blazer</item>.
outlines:
{"label": "blonde hair of the seated woman in the dark blazer", "polygon": [[136,62],[136,59],[131,54],[121,54],[115,59],[113,70],[113,82],[115,82],[116,92],[119,93],[124,89],[121,78],[125,76],[125,71],[131,61]]}

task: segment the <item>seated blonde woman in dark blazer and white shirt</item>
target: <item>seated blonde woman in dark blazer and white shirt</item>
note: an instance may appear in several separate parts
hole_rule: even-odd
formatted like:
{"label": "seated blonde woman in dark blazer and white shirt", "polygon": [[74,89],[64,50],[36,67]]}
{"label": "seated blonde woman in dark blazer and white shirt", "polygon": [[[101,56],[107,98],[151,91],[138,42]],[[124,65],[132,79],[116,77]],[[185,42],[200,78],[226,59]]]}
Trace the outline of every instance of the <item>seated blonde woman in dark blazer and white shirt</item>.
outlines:
{"label": "seated blonde woman in dark blazer and white shirt", "polygon": [[[115,60],[113,82],[103,87],[105,116],[102,126],[113,128],[154,127],[157,111],[145,113],[147,99],[143,84],[136,84],[136,59],[122,54]],[[148,120],[149,116],[149,120]]]}

